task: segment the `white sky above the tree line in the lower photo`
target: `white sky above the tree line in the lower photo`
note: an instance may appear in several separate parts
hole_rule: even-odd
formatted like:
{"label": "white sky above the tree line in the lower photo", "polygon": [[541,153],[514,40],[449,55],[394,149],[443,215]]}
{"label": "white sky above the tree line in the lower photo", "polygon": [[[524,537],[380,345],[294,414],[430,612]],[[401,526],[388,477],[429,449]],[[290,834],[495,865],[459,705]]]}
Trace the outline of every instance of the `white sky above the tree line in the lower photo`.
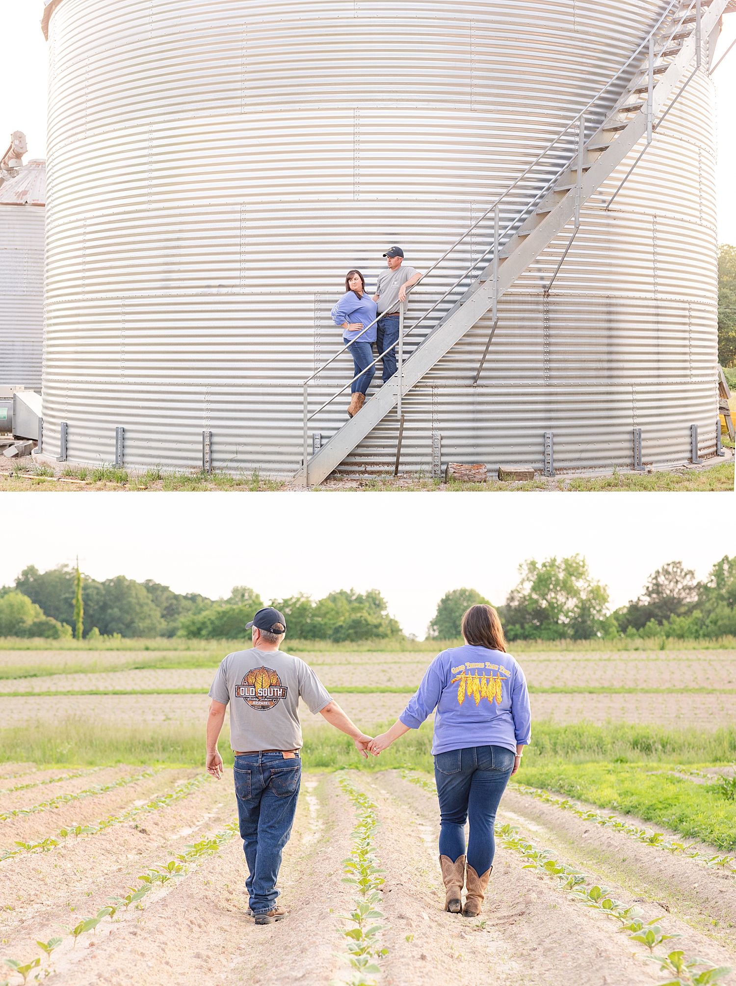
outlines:
{"label": "white sky above the tree line in the lower photo", "polygon": [[502,603],[526,558],[585,555],[614,606],[635,599],[664,562],[683,561],[704,578],[736,554],[736,528],[729,532],[725,514],[719,520],[730,498],[713,497],[5,493],[12,528],[3,533],[0,585],[27,565],[44,571],[79,554],[95,579],[154,579],[211,598],[234,585],[264,600],[376,588],[404,631],[423,638],[448,590],[466,586]]}

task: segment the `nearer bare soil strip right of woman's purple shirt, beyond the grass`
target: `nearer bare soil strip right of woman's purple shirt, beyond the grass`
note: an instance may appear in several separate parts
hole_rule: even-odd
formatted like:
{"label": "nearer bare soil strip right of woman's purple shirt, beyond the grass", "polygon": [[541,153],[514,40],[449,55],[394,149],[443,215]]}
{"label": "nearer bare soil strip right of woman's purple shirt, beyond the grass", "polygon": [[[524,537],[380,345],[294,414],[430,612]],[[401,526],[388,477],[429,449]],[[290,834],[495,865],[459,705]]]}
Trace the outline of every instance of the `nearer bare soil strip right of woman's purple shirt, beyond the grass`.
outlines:
{"label": "nearer bare soil strip right of woman's purple shirt, beyond the grass", "polygon": [[550,719],[560,725],[612,720],[679,729],[692,726],[700,730],[715,730],[720,726],[733,726],[736,719],[734,694],[537,694],[531,695],[530,699],[533,719]]}

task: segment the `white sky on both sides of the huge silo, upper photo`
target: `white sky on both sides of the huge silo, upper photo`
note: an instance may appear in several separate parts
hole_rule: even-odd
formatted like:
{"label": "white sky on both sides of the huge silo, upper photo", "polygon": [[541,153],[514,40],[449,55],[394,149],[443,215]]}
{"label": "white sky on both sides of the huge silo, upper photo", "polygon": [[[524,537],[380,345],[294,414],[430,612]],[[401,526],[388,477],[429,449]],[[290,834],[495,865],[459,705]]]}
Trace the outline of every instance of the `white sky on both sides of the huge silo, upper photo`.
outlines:
{"label": "white sky on both sides of the huge silo, upper photo", "polygon": [[[41,0],[0,0],[3,32],[3,93],[0,99],[0,143],[2,154],[13,130],[28,138],[25,158],[46,154],[46,52],[40,30]],[[736,37],[736,13],[723,18],[716,60]],[[713,75],[717,99],[719,166],[716,186],[718,241],[736,245],[736,197],[733,194],[733,163],[736,161],[736,47]]]}

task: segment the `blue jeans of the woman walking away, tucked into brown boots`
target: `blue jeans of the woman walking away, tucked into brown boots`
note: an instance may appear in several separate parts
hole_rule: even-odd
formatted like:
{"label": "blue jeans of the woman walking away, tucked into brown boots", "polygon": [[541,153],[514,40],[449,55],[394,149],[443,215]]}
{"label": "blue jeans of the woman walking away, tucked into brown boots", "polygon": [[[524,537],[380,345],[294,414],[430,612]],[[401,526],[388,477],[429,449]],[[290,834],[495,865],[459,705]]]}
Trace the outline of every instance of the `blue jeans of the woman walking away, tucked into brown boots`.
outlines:
{"label": "blue jeans of the woman walking away, tucked into brown boots", "polygon": [[468,866],[482,876],[494,862],[494,824],[513,769],[505,746],[470,746],[435,754],[439,796],[439,855],[454,863],[465,853],[465,819],[470,819]]}

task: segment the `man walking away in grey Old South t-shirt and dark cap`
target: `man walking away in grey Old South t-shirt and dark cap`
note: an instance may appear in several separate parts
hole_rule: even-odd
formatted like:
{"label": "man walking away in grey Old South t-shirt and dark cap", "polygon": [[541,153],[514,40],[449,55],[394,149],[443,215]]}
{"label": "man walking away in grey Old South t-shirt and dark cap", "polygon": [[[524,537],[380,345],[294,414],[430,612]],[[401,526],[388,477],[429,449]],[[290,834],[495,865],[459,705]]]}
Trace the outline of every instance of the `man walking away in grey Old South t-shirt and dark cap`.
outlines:
{"label": "man walking away in grey Old South t-shirt and dark cap", "polygon": [[210,688],[207,770],[218,780],[223,758],[217,742],[230,703],[230,741],[235,754],[235,795],[248,879],[250,910],[258,925],[286,917],[276,906],[281,855],[289,841],[301,783],[299,700],[347,733],[368,757],[370,737],[333,702],[321,681],[299,658],[279,651],[286,618],[270,606],[252,621],[252,650],[229,654]]}

